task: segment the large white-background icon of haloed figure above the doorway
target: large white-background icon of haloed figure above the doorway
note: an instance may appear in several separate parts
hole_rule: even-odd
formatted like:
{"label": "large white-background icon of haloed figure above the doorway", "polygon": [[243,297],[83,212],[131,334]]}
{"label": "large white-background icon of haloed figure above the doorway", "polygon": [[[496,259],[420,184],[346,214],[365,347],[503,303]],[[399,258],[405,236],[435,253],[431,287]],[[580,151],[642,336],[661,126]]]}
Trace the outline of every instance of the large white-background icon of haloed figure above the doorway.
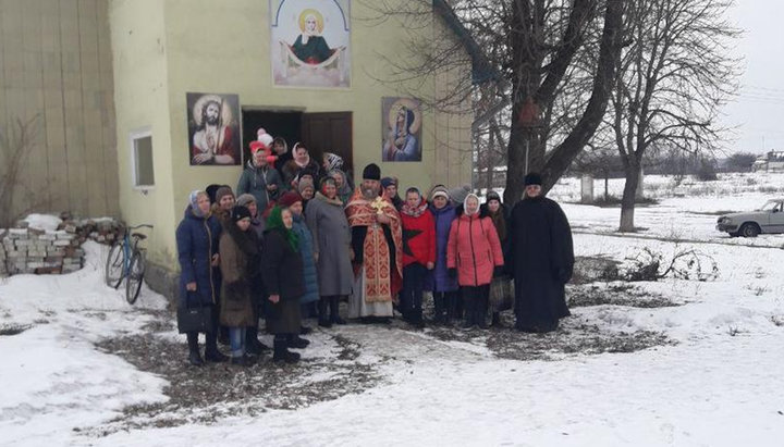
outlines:
{"label": "large white-background icon of haloed figure above the doorway", "polygon": [[351,0],[270,0],[277,86],[351,87]]}

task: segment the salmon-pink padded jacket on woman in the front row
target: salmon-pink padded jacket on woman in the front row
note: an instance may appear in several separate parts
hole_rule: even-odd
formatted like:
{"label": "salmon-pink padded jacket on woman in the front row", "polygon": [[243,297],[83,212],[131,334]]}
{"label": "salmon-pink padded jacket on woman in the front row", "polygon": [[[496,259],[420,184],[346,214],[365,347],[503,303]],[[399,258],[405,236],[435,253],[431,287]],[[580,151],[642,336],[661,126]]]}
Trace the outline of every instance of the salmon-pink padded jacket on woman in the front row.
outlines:
{"label": "salmon-pink padded jacket on woman in the front row", "polygon": [[479,213],[462,213],[452,222],[446,246],[446,266],[457,269],[457,283],[461,286],[482,286],[490,284],[493,269],[503,265],[503,252],[495,225],[488,216]]}

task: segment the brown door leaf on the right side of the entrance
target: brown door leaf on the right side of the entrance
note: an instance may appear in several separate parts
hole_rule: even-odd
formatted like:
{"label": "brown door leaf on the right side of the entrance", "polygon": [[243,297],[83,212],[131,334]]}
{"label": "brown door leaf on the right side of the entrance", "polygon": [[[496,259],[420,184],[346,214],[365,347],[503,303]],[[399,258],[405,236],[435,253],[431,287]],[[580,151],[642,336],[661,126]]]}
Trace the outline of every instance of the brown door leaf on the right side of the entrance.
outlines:
{"label": "brown door leaf on the right side of the entrance", "polygon": [[352,112],[305,113],[302,140],[310,157],[321,162],[324,152],[343,158],[343,170],[354,177]]}

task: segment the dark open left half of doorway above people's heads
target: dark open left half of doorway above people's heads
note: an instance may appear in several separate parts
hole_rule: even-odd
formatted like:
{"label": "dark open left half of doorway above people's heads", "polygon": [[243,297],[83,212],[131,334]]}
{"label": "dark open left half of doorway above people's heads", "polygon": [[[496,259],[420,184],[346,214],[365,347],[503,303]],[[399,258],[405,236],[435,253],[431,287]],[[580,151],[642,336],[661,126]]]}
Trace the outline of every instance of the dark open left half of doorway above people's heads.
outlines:
{"label": "dark open left half of doorway above people's heads", "polygon": [[243,109],[243,160],[250,160],[248,145],[255,141],[257,131],[264,127],[273,137],[283,137],[289,150],[302,138],[302,112],[271,112]]}

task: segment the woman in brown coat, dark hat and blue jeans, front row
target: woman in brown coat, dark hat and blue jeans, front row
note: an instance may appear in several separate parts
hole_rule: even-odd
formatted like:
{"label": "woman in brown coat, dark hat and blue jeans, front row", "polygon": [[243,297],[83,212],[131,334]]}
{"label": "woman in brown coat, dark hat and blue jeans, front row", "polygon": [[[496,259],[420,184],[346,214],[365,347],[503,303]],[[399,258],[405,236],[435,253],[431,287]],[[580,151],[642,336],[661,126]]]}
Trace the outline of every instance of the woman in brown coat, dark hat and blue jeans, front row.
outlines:
{"label": "woman in brown coat, dark hat and blue jeans, front row", "polygon": [[230,222],[220,238],[221,285],[220,323],[229,327],[231,362],[249,365],[246,355],[246,331],[254,326],[255,312],[250,284],[258,274],[258,239],[250,228],[250,211],[232,208]]}

